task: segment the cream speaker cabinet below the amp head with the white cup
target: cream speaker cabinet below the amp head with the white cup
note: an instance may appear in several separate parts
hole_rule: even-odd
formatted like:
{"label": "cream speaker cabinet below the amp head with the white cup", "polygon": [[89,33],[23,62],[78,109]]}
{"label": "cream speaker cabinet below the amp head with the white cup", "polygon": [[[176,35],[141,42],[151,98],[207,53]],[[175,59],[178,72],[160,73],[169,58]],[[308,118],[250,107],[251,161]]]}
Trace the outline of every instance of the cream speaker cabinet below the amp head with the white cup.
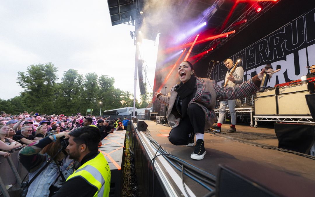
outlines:
{"label": "cream speaker cabinet below the amp head with the white cup", "polygon": [[279,115],[310,115],[305,95],[312,91],[295,92],[277,96]]}

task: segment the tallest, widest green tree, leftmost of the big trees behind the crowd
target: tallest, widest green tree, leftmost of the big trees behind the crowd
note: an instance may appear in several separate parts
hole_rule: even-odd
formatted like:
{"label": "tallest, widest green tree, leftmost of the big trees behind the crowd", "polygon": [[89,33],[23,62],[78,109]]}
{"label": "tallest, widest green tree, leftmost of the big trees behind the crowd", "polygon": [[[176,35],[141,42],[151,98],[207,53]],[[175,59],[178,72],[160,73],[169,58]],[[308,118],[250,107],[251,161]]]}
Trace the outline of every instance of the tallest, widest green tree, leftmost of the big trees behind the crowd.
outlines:
{"label": "tallest, widest green tree, leftmost of the big trees behind the crowd", "polygon": [[26,110],[38,113],[54,112],[54,85],[58,79],[57,67],[52,63],[33,64],[26,72],[18,72],[18,82],[25,89],[21,93],[23,106]]}

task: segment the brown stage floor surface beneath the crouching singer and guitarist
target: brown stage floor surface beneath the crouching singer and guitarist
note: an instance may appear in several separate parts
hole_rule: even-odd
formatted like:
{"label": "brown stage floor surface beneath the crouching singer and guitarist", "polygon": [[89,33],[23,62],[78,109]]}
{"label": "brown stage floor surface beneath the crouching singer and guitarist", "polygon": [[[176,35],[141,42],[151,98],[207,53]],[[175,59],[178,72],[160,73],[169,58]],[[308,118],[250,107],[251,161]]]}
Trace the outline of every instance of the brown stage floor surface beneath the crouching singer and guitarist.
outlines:
{"label": "brown stage floor surface beneath the crouching singer and guitarist", "polygon": [[[168,141],[167,136],[171,130],[170,127],[156,124],[155,121],[145,120],[145,122],[148,124],[147,129],[150,130],[151,136],[168,152],[215,176],[217,176],[219,164],[228,164],[234,161],[252,161],[278,171],[315,180],[315,160],[246,143],[259,142],[265,147],[278,147],[278,140],[273,129],[237,125],[237,133],[226,133],[227,135],[205,133],[206,155],[203,160],[193,160],[190,159],[190,155],[194,147],[175,146]],[[228,128],[229,125],[225,124],[222,131],[225,132]],[[257,135],[252,137],[255,134],[258,134],[258,137]],[[243,139],[238,140],[237,135],[241,135]],[[140,134],[140,136],[145,137],[144,134]],[[262,136],[263,139],[257,139],[259,136]],[[148,144],[148,146],[150,145]],[[180,176],[180,172],[175,171]],[[185,183],[196,196],[203,196],[209,192],[189,179],[185,176]]]}

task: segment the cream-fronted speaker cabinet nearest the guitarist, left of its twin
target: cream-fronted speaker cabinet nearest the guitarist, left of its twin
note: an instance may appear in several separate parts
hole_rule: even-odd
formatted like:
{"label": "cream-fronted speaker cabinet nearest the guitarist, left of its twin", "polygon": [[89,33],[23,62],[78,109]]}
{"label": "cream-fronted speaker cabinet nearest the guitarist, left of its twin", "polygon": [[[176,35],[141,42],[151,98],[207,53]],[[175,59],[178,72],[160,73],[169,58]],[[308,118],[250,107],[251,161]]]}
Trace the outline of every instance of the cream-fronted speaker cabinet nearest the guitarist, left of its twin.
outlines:
{"label": "cream-fronted speaker cabinet nearest the guitarist, left of its twin", "polygon": [[255,115],[277,115],[277,96],[255,98]]}

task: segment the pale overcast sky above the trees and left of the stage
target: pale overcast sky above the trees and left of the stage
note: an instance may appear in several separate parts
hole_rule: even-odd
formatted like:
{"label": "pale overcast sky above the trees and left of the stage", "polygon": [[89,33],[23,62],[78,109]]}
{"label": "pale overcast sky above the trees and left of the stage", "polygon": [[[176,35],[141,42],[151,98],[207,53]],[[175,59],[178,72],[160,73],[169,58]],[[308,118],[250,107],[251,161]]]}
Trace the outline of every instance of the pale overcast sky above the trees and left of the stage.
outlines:
{"label": "pale overcast sky above the trees and left of the stage", "polygon": [[[72,68],[83,76],[96,72],[114,77],[116,88],[133,94],[135,46],[129,31],[135,27],[112,26],[107,1],[1,1],[0,27],[0,98],[10,99],[23,91],[16,84],[18,71],[46,62],[58,67],[59,82],[63,72]],[[157,47],[158,38],[156,46],[144,40],[140,48],[152,88]],[[138,81],[137,95],[138,99]]]}

